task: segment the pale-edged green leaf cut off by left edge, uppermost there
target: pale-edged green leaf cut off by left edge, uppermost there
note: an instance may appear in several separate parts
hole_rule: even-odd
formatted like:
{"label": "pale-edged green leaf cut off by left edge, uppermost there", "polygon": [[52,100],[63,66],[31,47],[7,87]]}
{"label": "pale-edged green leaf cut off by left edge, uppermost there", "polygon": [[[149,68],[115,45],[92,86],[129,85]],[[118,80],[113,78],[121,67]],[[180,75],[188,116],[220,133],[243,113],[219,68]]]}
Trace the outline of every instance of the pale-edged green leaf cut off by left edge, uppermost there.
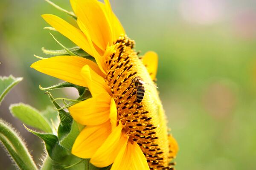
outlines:
{"label": "pale-edged green leaf cut off by left edge, uppermost there", "polygon": [[22,79],[22,77],[15,78],[12,75],[9,77],[0,77],[0,105],[4,96],[6,96],[6,94]]}

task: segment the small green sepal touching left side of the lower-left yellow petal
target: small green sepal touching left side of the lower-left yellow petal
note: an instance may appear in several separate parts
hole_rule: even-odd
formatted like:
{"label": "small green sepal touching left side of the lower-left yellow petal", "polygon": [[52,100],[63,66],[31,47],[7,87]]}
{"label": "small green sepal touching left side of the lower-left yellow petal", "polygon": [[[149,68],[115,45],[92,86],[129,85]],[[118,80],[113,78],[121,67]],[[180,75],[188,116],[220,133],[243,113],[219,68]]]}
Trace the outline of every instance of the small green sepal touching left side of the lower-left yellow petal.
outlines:
{"label": "small green sepal touching left side of the lower-left yellow petal", "polygon": [[73,121],[70,133],[67,134],[61,141],[60,145],[67,148],[68,150],[72,149],[72,146],[76,140],[76,137],[79,135],[81,130],[84,128],[84,125],[80,125],[76,121]]}

